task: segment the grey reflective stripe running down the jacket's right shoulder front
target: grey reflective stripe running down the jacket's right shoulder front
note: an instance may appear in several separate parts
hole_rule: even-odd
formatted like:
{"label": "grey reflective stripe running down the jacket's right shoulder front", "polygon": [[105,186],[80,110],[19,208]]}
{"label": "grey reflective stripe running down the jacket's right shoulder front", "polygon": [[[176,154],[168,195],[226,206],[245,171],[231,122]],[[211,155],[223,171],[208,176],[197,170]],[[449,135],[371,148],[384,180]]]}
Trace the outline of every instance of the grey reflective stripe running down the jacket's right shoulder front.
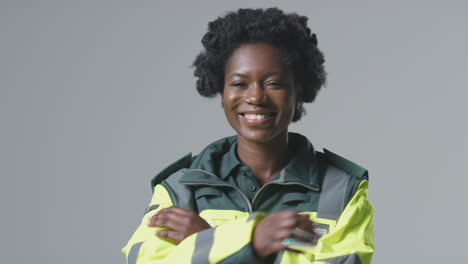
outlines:
{"label": "grey reflective stripe running down the jacket's right shoulder front", "polygon": [[350,177],[346,172],[328,166],[320,193],[317,217],[338,220],[343,210]]}

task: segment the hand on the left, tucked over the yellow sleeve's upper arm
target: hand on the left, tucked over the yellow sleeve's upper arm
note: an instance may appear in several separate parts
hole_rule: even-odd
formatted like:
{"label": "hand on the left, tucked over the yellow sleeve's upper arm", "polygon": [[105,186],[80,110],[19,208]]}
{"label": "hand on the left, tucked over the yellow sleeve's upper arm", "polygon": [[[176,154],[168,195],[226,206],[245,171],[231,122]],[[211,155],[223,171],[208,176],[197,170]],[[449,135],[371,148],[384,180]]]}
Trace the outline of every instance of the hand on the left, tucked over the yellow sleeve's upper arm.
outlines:
{"label": "hand on the left, tucked over the yellow sleeve's upper arm", "polygon": [[179,244],[186,237],[211,226],[195,212],[177,206],[164,208],[148,218],[149,227],[163,227],[155,235]]}

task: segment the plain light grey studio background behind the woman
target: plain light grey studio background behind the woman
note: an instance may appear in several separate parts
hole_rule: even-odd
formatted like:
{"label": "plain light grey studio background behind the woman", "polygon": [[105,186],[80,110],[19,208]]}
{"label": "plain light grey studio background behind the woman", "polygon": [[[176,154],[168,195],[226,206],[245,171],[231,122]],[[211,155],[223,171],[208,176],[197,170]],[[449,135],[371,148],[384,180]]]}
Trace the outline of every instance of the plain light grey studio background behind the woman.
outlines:
{"label": "plain light grey studio background behind the woman", "polygon": [[0,1],[2,263],[123,263],[165,165],[233,130],[200,97],[207,23],[309,17],[328,86],[291,131],[370,171],[374,263],[466,256],[468,4]]}

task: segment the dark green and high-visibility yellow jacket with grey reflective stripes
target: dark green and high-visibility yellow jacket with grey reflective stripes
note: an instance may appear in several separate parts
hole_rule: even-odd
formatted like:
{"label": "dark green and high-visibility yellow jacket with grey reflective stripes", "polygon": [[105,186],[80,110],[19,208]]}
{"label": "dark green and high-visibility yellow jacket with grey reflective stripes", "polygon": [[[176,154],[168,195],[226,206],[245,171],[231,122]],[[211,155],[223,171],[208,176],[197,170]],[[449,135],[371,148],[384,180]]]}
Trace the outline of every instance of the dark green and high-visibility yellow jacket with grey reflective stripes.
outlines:
{"label": "dark green and high-visibility yellow jacket with grey reflective stripes", "polygon": [[[326,149],[315,151],[307,138],[289,133],[292,160],[251,194],[236,176],[242,170],[236,144],[236,136],[218,140],[153,178],[151,202],[122,249],[128,264],[262,263],[251,243],[255,225],[265,214],[285,209],[309,215],[320,224],[322,237],[315,248],[302,249],[305,253],[282,251],[269,262],[371,263],[374,213],[367,170]],[[154,233],[160,228],[147,227],[147,219],[173,205],[197,212],[212,228],[178,245],[158,238]]]}

